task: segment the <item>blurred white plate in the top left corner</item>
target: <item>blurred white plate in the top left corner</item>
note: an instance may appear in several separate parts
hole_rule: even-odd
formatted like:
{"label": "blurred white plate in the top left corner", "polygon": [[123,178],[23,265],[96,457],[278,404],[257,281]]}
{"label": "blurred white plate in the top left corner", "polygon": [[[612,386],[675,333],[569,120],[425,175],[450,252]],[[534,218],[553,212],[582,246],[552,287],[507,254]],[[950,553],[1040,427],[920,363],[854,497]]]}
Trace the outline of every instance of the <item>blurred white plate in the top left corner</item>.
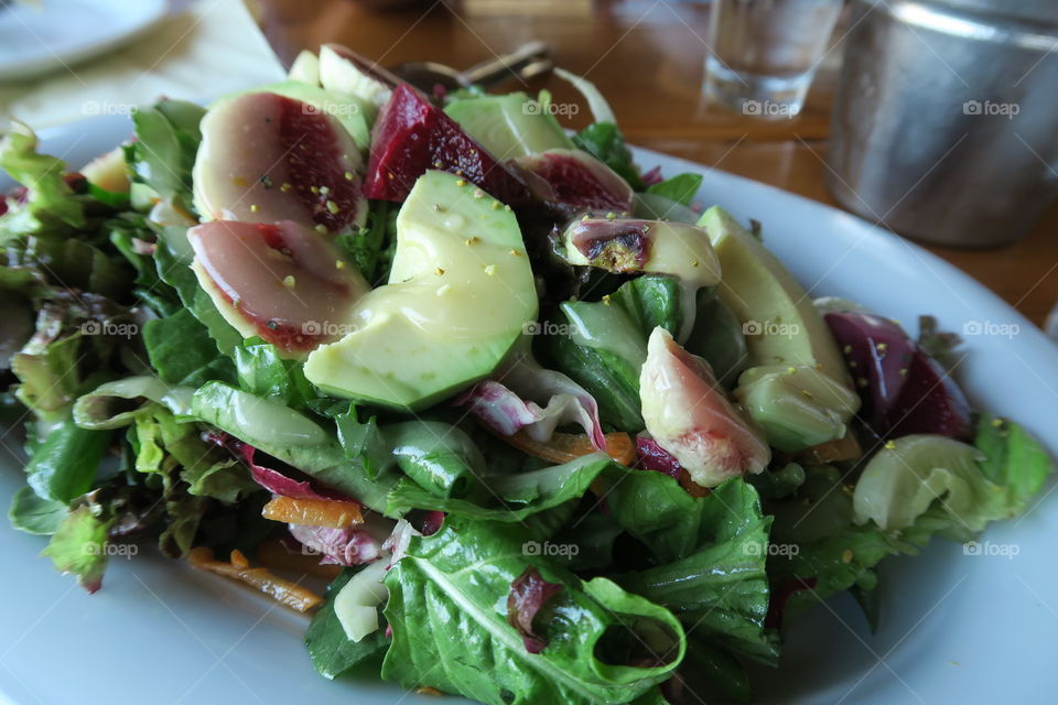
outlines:
{"label": "blurred white plate in the top left corner", "polygon": [[0,0],[0,80],[69,68],[139,36],[166,11],[165,0]]}

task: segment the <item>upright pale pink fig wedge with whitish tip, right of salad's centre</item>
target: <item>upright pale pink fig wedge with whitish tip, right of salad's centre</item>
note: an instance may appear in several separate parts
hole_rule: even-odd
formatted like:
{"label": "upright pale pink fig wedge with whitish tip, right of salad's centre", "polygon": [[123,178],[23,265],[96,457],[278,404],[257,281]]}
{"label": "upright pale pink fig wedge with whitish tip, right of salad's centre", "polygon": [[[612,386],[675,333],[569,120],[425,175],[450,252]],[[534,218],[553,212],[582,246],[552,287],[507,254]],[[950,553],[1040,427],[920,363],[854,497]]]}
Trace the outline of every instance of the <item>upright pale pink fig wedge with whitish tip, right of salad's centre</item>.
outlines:
{"label": "upright pale pink fig wedge with whitish tip, right of salad's centre", "polygon": [[709,362],[660,326],[647,344],[639,398],[647,431],[701,487],[760,473],[771,459],[764,434],[727,400]]}

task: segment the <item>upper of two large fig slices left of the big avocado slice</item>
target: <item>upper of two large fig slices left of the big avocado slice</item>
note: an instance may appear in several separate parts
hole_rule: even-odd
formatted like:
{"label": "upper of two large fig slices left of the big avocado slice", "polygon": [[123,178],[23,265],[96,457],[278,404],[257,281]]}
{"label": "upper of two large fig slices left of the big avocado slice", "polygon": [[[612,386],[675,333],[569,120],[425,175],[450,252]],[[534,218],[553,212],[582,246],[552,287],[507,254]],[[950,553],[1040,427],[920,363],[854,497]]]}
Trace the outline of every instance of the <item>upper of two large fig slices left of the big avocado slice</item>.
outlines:
{"label": "upper of two large fig slices left of the big avocado slice", "polygon": [[222,101],[202,120],[195,207],[203,220],[292,220],[328,232],[364,225],[356,142],[334,116],[273,93]]}

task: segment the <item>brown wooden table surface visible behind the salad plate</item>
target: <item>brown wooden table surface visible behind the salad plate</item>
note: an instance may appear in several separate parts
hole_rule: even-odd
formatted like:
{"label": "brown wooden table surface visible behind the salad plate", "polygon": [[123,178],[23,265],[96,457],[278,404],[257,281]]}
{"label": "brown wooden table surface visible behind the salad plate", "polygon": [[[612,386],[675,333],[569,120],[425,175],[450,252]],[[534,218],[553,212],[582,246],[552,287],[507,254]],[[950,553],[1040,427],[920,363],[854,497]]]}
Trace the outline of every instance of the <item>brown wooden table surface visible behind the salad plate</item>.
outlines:
{"label": "brown wooden table surface visible behind the salad plate", "polygon": [[[350,0],[253,2],[288,64],[303,48],[341,42],[386,65],[431,59],[463,67],[542,40],[560,66],[600,87],[630,142],[836,205],[824,185],[824,160],[840,46],[823,63],[798,118],[762,121],[712,107],[702,97],[708,2],[467,0],[390,11]],[[540,88],[551,90],[557,102],[579,100],[555,78],[535,80],[527,89]],[[563,121],[579,128],[590,118],[583,110]],[[1037,325],[1058,301],[1058,204],[1030,235],[1004,248],[926,247]]]}

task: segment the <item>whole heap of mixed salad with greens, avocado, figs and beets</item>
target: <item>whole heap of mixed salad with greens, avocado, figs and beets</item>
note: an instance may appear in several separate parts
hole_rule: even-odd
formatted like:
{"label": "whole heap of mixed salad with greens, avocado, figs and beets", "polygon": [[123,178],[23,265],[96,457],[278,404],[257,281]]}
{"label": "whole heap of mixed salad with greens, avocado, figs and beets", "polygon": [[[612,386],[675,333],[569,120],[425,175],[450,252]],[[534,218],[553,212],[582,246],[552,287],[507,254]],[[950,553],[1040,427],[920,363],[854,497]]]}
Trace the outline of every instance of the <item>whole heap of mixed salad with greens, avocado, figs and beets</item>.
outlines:
{"label": "whole heap of mixed salad with greens, avocado, figs and beets", "polygon": [[1025,511],[1052,462],[954,336],[812,302],[562,75],[573,135],[335,45],[79,172],[13,124],[12,524],[91,592],[151,541],[311,611],[328,679],[643,705],[749,699],[797,615]]}

